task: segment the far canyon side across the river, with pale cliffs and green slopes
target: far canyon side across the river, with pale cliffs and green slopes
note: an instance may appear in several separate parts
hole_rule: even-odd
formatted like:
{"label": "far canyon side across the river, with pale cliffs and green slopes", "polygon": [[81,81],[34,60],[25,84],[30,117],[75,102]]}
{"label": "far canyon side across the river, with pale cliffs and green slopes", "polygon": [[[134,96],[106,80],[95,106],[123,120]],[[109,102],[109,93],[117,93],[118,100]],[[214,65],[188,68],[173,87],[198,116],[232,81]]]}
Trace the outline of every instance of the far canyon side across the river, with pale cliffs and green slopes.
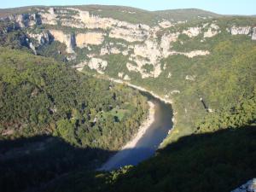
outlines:
{"label": "far canyon side across the river, with pale cliffs and green slopes", "polygon": [[[26,47],[79,71],[125,80],[172,101],[176,122],[168,142],[195,132],[208,113],[218,116],[253,94],[253,17],[98,5],[30,11],[3,19],[4,46]],[[127,20],[119,20],[124,15]],[[198,18],[201,15],[214,18]],[[149,25],[151,16],[157,22]],[[9,40],[13,38],[18,45]]]}

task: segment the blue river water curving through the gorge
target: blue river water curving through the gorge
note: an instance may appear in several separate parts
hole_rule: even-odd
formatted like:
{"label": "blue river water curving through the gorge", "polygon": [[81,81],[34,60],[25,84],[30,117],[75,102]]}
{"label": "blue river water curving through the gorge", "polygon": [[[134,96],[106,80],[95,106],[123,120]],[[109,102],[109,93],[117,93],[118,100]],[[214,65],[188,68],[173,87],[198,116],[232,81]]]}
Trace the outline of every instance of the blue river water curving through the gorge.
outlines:
{"label": "blue river water curving through the gorge", "polygon": [[137,142],[135,148],[126,148],[114,154],[100,170],[114,170],[121,166],[136,166],[139,162],[154,155],[160,143],[172,129],[172,106],[160,101],[148,92],[141,91],[148,101],[154,102],[154,123],[151,124],[143,137]]}

